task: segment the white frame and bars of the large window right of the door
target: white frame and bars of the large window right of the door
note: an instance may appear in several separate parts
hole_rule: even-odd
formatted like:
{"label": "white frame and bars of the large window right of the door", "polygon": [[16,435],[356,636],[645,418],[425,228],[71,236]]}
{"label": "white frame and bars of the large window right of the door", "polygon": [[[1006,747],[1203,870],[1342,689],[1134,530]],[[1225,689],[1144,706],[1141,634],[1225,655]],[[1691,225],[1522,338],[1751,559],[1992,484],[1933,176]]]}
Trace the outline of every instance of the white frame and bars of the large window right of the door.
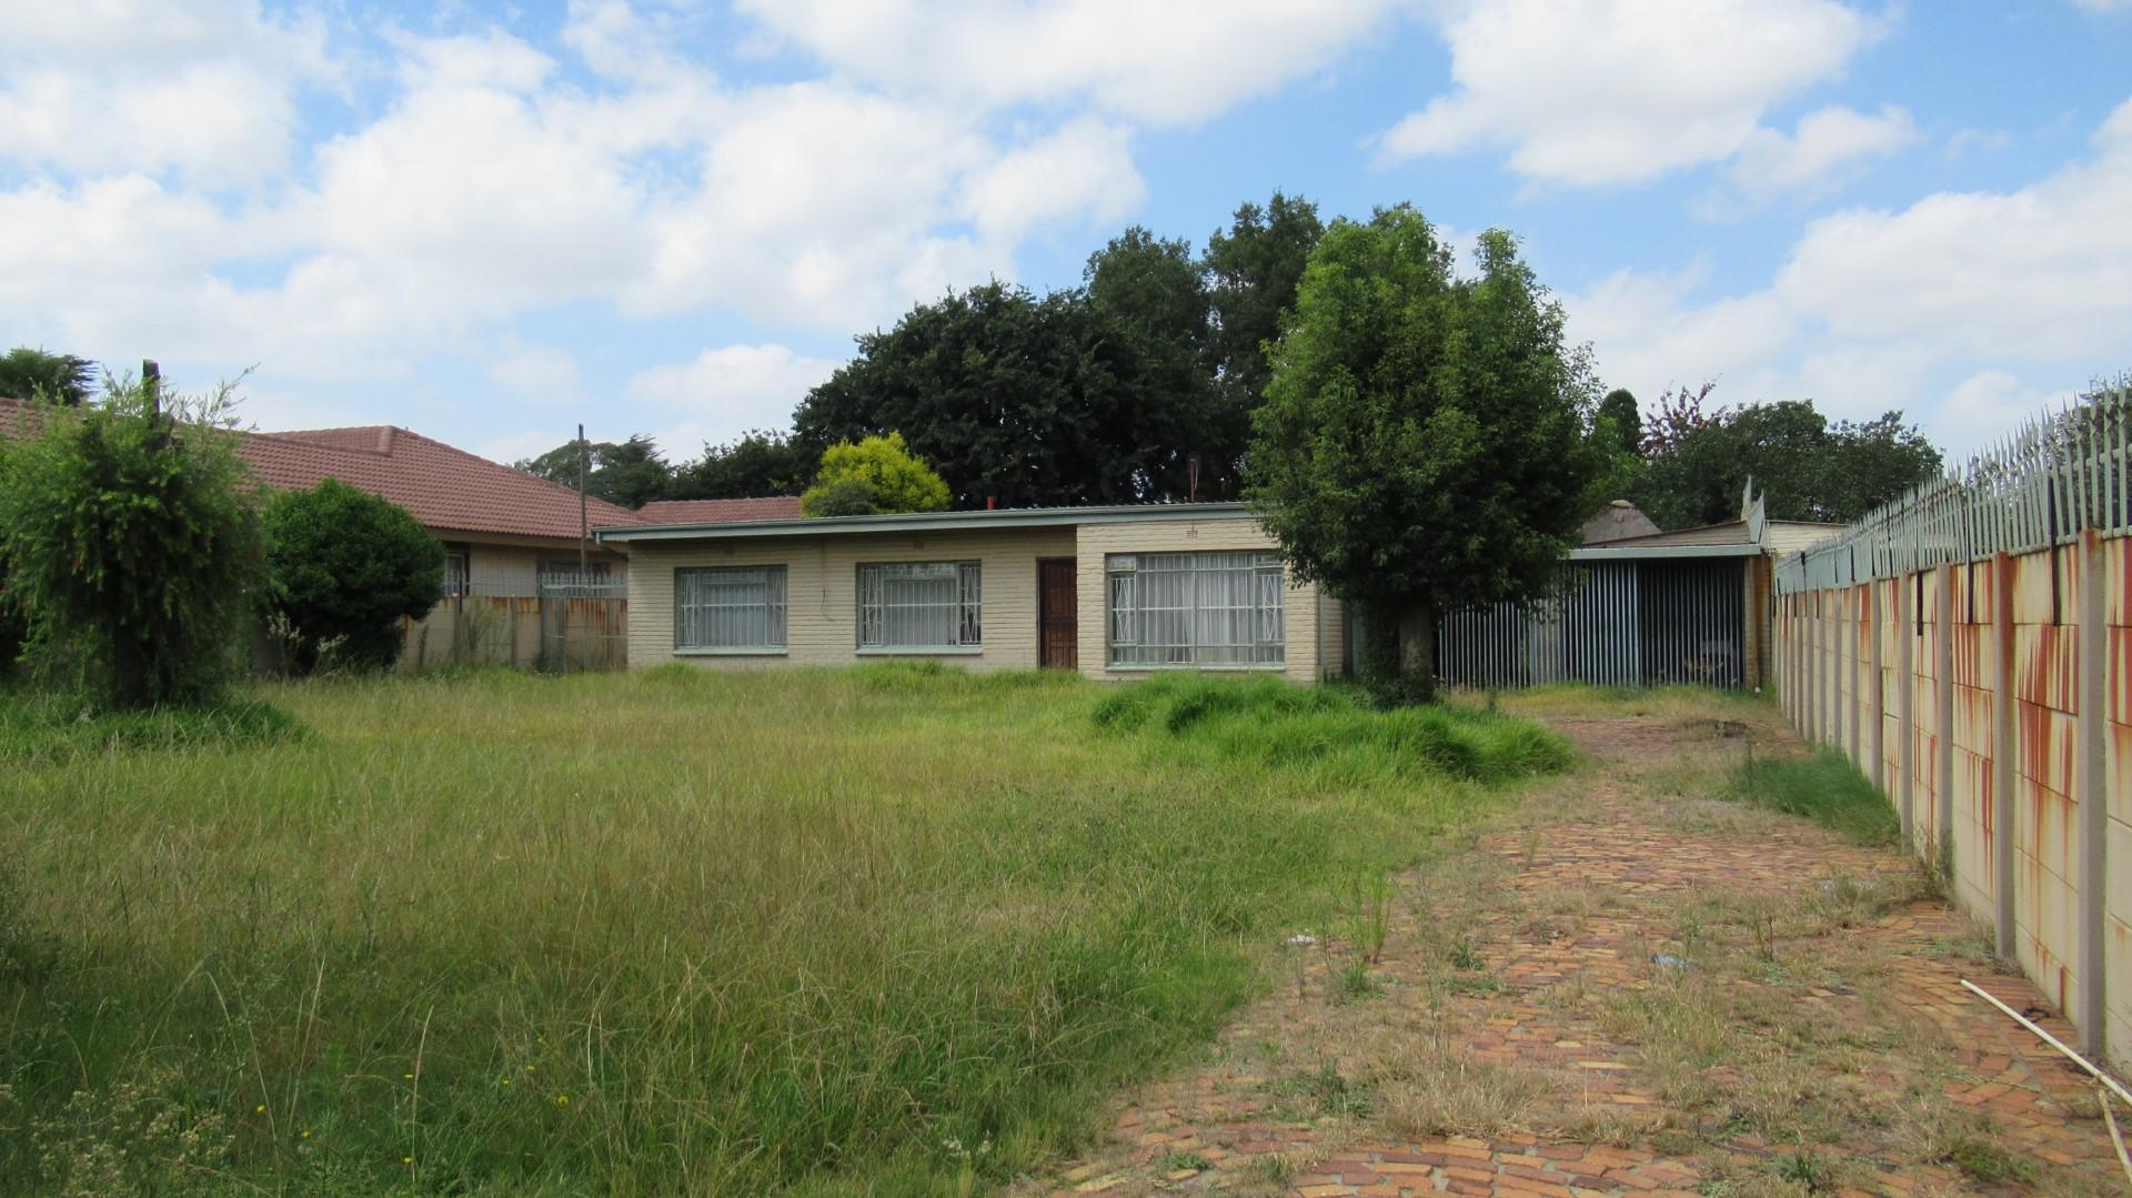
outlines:
{"label": "white frame and bars of the large window right of the door", "polygon": [[[1234,556],[1249,554],[1254,563],[1247,567],[1251,571],[1251,593],[1258,601],[1251,605],[1213,605],[1200,608],[1198,603],[1198,576],[1205,558],[1211,556]],[[1192,569],[1188,571],[1160,571],[1160,573],[1183,573],[1190,582],[1185,584],[1185,597],[1179,605],[1145,608],[1143,597],[1143,563],[1145,558],[1192,558]],[[1241,567],[1213,567],[1217,573],[1241,573]],[[1147,571],[1158,573],[1158,571]],[[1132,597],[1130,610],[1119,608],[1119,595],[1128,593]],[[1121,661],[1119,650],[1188,650],[1200,648],[1196,642],[1202,612],[1249,612],[1247,620],[1258,633],[1249,646],[1241,642],[1209,644],[1205,648],[1251,648],[1264,661]],[[1170,612],[1183,625],[1185,644],[1147,644],[1141,640],[1145,625],[1141,622],[1143,612]],[[1273,637],[1266,637],[1271,622]],[[1138,627],[1134,627],[1138,625]],[[1166,552],[1115,552],[1102,554],[1102,667],[1109,674],[1149,674],[1158,669],[1205,669],[1205,671],[1258,671],[1258,674],[1279,674],[1288,669],[1288,567],[1281,563],[1275,550],[1262,548],[1237,548],[1237,550],[1166,550]]]}

